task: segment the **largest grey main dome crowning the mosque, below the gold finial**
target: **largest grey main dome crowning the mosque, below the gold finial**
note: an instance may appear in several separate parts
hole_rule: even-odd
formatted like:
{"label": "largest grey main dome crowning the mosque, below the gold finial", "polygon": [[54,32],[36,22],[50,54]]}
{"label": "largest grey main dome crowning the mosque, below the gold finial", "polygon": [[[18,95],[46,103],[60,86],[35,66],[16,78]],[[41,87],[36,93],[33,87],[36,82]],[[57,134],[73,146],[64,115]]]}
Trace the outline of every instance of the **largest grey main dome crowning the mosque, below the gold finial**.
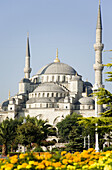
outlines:
{"label": "largest grey main dome crowning the mosque, below the gold finial", "polygon": [[50,63],[42,67],[37,74],[66,74],[74,75],[76,71],[69,65],[64,63]]}

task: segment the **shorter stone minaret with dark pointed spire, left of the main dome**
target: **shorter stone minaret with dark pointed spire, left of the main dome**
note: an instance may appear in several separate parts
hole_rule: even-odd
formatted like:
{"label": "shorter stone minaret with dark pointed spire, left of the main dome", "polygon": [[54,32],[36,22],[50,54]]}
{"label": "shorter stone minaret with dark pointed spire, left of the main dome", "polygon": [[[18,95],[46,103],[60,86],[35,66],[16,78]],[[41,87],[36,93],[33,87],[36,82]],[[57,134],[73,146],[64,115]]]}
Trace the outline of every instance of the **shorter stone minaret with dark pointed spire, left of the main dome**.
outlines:
{"label": "shorter stone minaret with dark pointed spire, left of the main dome", "polygon": [[24,68],[24,73],[25,73],[25,78],[30,78],[30,73],[31,73],[31,68],[30,68],[30,47],[29,47],[29,34],[27,34],[27,45],[26,45],[26,57],[25,57],[25,68]]}

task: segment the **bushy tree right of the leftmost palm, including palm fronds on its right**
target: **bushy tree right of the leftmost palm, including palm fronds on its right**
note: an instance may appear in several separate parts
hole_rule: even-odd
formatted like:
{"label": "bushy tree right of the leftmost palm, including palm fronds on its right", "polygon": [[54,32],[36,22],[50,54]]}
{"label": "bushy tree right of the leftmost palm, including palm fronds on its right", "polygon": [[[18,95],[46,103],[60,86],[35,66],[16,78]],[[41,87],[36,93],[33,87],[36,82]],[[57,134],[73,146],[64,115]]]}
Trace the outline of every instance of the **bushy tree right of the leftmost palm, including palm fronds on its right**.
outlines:
{"label": "bushy tree right of the leftmost palm, including palm fronds on its right", "polygon": [[27,146],[31,143],[37,143],[39,146],[43,140],[49,136],[53,128],[47,121],[27,116],[25,123],[17,128],[18,143]]}

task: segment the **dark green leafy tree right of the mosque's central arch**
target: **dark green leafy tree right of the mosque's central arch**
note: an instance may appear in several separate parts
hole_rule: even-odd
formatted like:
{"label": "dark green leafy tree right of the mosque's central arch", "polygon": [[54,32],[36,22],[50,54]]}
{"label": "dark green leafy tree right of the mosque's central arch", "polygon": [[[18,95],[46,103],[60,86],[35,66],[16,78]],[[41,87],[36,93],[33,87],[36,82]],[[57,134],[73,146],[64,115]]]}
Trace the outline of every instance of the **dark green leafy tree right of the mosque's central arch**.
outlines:
{"label": "dark green leafy tree right of the mosque's central arch", "polygon": [[78,121],[81,118],[81,115],[73,113],[72,115],[66,116],[61,122],[57,123],[60,141],[69,143],[67,147],[69,147],[70,150],[75,151],[76,148],[78,148],[78,150],[82,150],[83,148],[82,133],[84,127],[78,124]]}

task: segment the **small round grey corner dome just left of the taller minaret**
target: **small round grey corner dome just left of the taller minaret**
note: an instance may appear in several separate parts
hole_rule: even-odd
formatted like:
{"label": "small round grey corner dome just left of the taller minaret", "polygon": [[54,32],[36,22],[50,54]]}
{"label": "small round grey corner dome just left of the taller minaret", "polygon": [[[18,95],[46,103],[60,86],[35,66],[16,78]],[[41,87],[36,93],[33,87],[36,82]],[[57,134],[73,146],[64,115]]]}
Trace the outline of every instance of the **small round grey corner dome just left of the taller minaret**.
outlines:
{"label": "small round grey corner dome just left of the taller minaret", "polygon": [[93,105],[95,103],[91,97],[82,97],[79,102],[83,105]]}

